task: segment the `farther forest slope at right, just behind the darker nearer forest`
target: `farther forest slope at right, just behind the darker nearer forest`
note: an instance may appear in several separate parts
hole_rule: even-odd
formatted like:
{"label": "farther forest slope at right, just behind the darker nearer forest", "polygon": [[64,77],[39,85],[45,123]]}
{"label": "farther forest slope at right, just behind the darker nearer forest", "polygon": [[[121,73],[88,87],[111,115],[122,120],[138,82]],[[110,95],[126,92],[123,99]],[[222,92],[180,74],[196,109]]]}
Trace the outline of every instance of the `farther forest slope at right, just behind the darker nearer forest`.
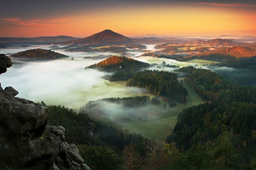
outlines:
{"label": "farther forest slope at right, just behind the darker nearer forest", "polygon": [[[187,70],[186,70],[187,68]],[[185,82],[205,101],[218,103],[248,102],[255,103],[256,89],[252,86],[230,84],[223,76],[208,69],[184,67],[177,71],[191,72]]]}

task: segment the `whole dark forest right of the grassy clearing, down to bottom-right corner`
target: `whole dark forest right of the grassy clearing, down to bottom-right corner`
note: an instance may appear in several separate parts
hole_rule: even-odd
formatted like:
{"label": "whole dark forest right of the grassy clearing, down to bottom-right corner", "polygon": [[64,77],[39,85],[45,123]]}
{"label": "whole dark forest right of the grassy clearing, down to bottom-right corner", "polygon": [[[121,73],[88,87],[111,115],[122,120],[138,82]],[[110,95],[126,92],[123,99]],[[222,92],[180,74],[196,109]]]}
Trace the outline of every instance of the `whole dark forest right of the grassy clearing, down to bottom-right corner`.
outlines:
{"label": "whole dark forest right of the grassy clearing, down to bottom-right corner", "polygon": [[182,161],[189,163],[180,164],[179,169],[193,167],[189,160],[192,152],[204,155],[197,160],[200,169],[209,165],[213,169],[254,169],[256,88],[229,84],[207,69],[190,66],[178,70],[187,72],[186,83],[204,100],[211,101],[183,110],[167,137],[168,143],[175,142],[184,152]]}

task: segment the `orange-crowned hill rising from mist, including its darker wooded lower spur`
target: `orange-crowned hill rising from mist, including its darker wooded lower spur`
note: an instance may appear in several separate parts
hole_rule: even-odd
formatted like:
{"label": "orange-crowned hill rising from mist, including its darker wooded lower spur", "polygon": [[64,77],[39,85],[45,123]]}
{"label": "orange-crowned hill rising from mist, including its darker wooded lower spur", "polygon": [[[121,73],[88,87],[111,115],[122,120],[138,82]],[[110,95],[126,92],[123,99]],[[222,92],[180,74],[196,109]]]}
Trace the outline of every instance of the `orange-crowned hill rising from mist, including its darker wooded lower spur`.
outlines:
{"label": "orange-crowned hill rising from mist, including its darker wooded lower spur", "polygon": [[150,64],[128,57],[113,56],[97,64],[90,65],[86,68],[98,68],[100,71],[115,72],[110,81],[127,80],[134,72],[143,68],[150,67]]}

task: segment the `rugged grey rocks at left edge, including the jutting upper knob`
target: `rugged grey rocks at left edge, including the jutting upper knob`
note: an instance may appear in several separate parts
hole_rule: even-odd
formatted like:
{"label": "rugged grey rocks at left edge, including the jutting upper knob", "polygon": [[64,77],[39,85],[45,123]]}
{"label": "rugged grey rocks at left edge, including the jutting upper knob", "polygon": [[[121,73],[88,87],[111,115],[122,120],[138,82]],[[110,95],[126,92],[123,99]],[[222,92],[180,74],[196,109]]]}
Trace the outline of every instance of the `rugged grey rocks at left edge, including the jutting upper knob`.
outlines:
{"label": "rugged grey rocks at left edge, including the jutting upper knob", "polygon": [[[11,60],[5,57],[0,68],[6,71]],[[0,86],[0,169],[89,170],[77,147],[65,142],[65,129],[46,125],[48,109],[17,94]]]}

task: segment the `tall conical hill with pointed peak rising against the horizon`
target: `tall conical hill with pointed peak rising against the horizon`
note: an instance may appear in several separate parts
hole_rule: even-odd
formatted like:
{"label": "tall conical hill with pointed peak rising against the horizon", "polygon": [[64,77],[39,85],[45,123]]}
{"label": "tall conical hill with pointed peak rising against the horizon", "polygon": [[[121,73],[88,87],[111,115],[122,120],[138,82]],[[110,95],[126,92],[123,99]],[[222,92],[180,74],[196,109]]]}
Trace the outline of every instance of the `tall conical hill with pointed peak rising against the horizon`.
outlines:
{"label": "tall conical hill with pointed peak rising against the horizon", "polygon": [[61,44],[72,44],[72,45],[85,45],[85,44],[132,44],[134,43],[131,38],[124,35],[118,34],[111,30],[104,30],[91,36],[81,38],[79,40],[72,40],[62,42]]}

